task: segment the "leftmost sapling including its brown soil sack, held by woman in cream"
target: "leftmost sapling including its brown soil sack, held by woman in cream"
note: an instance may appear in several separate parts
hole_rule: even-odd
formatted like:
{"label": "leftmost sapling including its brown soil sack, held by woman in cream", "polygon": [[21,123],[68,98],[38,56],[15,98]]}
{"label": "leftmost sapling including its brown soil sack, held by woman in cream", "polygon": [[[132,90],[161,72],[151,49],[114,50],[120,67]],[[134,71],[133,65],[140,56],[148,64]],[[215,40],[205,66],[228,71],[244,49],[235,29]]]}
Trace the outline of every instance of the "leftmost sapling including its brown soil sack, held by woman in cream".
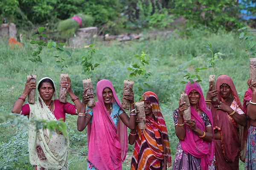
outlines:
{"label": "leftmost sapling including its brown soil sack, held by woman in cream", "polygon": [[[38,28],[39,34],[35,34],[32,38],[35,38],[35,37],[38,37],[38,36],[39,37],[40,36],[41,37],[47,37],[46,34],[42,34],[43,31],[44,31],[44,27],[39,27]],[[33,51],[33,53],[32,53],[33,58],[29,58],[30,61],[34,62],[34,68],[33,68],[33,71],[32,71],[32,75],[27,76],[27,79],[32,77],[29,82],[35,82],[36,83],[37,76],[35,75],[35,71],[36,71],[35,70],[35,64],[37,64],[38,62],[42,63],[42,59],[41,59],[39,54],[41,54],[41,51],[43,50],[43,47],[47,46],[47,43],[45,43],[44,40],[36,40],[36,41],[32,40],[32,41],[30,41],[30,44],[38,45],[38,50]],[[30,104],[35,104],[35,88],[33,88],[31,90],[31,92],[29,93],[28,102]]]}

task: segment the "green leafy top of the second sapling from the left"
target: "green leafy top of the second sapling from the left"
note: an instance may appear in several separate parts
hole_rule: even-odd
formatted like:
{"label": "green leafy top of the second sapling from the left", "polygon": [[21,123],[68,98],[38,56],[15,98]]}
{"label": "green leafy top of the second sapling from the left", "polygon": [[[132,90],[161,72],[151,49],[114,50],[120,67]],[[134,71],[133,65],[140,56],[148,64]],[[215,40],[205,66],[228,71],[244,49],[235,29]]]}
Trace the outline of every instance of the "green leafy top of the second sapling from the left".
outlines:
{"label": "green leafy top of the second sapling from the left", "polygon": [[[57,60],[56,62],[59,63],[59,65],[57,65],[57,67],[61,69],[61,74],[62,74],[62,71],[64,70],[64,67],[67,68],[67,65],[63,64],[63,62],[65,61],[65,58],[63,58],[63,56],[62,56],[62,53],[64,52],[63,45],[65,45],[65,44],[66,43],[59,43],[59,45],[58,45],[56,42],[53,41],[53,42],[49,42],[47,45],[48,48],[55,48],[59,53],[58,56],[53,56],[53,57],[60,58],[60,60]],[[72,57],[70,51],[65,51],[65,52],[66,52],[67,56]]]}

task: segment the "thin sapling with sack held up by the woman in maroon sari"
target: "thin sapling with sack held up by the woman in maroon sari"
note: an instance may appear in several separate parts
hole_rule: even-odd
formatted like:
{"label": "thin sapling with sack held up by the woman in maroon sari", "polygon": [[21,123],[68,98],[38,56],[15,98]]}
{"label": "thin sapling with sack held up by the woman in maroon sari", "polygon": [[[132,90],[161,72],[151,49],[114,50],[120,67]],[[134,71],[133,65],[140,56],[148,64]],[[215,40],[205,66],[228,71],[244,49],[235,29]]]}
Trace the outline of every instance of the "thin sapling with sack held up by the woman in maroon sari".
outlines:
{"label": "thin sapling with sack held up by the woman in maroon sari", "polygon": [[[213,55],[213,51],[212,51],[212,44],[210,44],[209,42],[207,43],[208,45],[204,45],[205,47],[208,48],[209,51],[211,51],[211,58],[210,58],[210,64],[212,66],[212,75],[209,76],[209,87],[212,86],[212,91],[213,90],[216,90],[216,85],[215,85],[215,72],[217,71],[215,69],[215,64],[217,62],[217,59],[218,59],[218,55],[223,55],[222,53],[218,52],[218,53],[215,53]],[[212,101],[215,102],[217,100],[217,96],[214,96],[212,98]]]}

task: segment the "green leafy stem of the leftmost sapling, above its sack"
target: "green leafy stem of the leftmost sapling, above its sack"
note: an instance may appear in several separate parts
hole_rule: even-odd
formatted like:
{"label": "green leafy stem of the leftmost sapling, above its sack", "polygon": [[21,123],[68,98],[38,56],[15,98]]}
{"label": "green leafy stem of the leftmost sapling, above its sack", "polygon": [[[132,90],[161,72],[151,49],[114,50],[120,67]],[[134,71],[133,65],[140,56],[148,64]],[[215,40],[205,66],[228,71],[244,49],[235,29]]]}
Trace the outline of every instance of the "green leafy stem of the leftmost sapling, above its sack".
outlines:
{"label": "green leafy stem of the leftmost sapling, above its sack", "polygon": [[[47,37],[46,34],[41,34],[42,32],[44,31],[44,27],[39,27],[38,28],[38,32],[39,34],[35,34],[32,38],[35,38],[35,37]],[[37,64],[38,62],[41,62],[42,63],[42,59],[41,57],[39,56],[39,54],[41,54],[41,51],[43,49],[43,46],[47,46],[47,43],[44,42],[44,40],[32,40],[30,41],[30,44],[36,44],[38,45],[38,51],[33,51],[33,57],[34,58],[29,58],[30,61],[34,62],[34,68],[33,68],[33,73],[32,73],[32,76],[35,74],[35,64]]]}

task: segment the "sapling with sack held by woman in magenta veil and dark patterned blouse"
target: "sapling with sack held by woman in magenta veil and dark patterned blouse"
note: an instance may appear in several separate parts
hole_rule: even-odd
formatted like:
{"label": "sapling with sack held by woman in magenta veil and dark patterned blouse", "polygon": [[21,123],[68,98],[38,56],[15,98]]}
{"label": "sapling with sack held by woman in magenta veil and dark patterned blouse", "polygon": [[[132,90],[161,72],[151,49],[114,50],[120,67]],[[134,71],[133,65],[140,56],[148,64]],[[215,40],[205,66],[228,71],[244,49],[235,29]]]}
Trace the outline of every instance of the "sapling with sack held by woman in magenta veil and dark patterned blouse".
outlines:
{"label": "sapling with sack held by woman in magenta veil and dark patterned blouse", "polygon": [[[206,70],[207,68],[196,68],[195,69],[195,72],[196,74],[186,74],[185,76],[183,77],[186,77],[186,81],[182,81],[181,83],[183,84],[187,84],[189,83],[190,81],[190,84],[194,84],[194,78],[196,77],[197,80],[195,82],[201,82],[201,78],[200,76],[198,75],[198,72],[200,70]],[[186,102],[184,105],[182,106],[188,106],[188,108],[186,110],[183,111],[183,118],[184,118],[184,121],[185,122],[189,122],[191,120],[191,110],[190,110],[190,102],[189,102],[189,97],[187,94],[185,94],[184,92],[181,91],[181,94],[180,94],[180,102],[183,103],[183,102]]]}

